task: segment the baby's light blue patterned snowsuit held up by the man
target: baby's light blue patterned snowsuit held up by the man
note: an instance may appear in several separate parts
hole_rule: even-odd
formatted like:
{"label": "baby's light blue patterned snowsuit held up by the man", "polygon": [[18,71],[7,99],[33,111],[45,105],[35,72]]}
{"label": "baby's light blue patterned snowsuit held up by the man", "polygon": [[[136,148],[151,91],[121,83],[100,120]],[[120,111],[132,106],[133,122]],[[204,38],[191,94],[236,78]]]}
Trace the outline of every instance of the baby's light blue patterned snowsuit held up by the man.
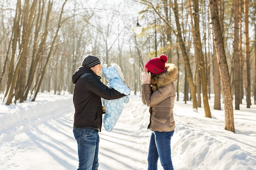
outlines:
{"label": "baby's light blue patterned snowsuit held up by the man", "polygon": [[[110,67],[102,68],[102,73],[106,78],[106,80],[108,81],[107,86],[114,88],[120,93],[129,95],[130,88],[128,88],[128,86],[124,84],[123,80],[121,79],[122,76],[121,77],[119,76],[118,71],[115,67],[120,69],[119,71],[121,71],[121,68],[115,63],[112,64],[112,66]],[[128,96],[124,96],[114,100],[103,99],[103,105],[106,110],[106,113],[103,118],[103,125],[108,132],[111,132],[114,126],[116,125],[117,120],[119,119],[119,116],[123,111],[123,103],[128,103],[128,102],[129,102]]]}

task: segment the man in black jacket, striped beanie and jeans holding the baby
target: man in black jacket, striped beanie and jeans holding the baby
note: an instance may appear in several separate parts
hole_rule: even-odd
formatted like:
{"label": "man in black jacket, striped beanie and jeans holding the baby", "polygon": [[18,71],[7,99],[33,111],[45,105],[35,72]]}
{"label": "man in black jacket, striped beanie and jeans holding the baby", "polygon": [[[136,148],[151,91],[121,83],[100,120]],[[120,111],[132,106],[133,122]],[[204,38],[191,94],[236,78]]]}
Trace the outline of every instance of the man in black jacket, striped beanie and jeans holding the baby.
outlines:
{"label": "man in black jacket, striped beanie and jeans holding the baby", "polygon": [[73,132],[79,157],[77,170],[98,170],[99,131],[103,114],[101,98],[111,100],[125,96],[100,81],[101,70],[99,58],[88,55],[72,76],[72,83],[75,84]]}

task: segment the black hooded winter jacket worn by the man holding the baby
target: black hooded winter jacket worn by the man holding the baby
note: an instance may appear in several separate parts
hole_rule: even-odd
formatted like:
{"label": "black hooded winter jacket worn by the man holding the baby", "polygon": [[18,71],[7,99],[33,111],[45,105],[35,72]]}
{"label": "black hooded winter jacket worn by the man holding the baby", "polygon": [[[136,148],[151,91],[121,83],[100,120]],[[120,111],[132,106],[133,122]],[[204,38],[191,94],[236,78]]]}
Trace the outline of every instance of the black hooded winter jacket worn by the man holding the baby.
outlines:
{"label": "black hooded winter jacket worn by the man holding the baby", "polygon": [[110,100],[125,96],[103,84],[100,79],[100,76],[87,67],[81,66],[74,72],[74,128],[93,128],[101,131],[101,98]]}

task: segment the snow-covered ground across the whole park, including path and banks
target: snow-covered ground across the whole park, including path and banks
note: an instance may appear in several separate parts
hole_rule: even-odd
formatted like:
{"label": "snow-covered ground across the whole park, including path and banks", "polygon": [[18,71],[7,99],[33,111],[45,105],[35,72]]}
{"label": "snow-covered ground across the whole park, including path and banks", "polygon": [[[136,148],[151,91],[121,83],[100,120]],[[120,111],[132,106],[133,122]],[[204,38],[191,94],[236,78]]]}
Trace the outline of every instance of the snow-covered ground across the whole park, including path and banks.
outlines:
{"label": "snow-covered ground across the whole park, including path and banks", "polygon": [[[147,170],[148,107],[139,95],[129,97],[114,130],[99,133],[99,170]],[[234,110],[233,133],[224,129],[224,105],[209,104],[213,118],[203,108],[193,112],[191,102],[175,102],[174,169],[256,170],[256,105]],[[41,93],[36,102],[0,105],[0,170],[76,170],[73,116],[72,95]]]}

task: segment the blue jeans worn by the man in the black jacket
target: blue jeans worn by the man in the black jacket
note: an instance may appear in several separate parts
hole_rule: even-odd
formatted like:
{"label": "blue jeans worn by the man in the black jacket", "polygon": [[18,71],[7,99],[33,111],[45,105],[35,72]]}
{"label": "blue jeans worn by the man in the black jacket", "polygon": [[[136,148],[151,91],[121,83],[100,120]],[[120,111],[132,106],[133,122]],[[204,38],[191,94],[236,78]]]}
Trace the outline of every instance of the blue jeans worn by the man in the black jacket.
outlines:
{"label": "blue jeans worn by the man in the black jacket", "polygon": [[99,131],[88,128],[74,128],[77,141],[79,167],[77,170],[98,170]]}

